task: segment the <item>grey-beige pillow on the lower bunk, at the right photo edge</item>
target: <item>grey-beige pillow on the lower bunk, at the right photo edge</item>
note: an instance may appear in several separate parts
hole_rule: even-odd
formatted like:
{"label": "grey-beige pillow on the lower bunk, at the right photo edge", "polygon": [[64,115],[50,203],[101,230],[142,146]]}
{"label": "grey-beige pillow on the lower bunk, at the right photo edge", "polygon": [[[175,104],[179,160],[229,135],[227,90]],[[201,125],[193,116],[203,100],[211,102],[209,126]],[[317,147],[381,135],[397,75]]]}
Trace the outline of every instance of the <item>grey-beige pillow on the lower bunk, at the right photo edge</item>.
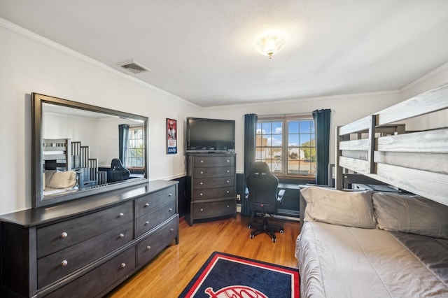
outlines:
{"label": "grey-beige pillow on the lower bunk, at the right photo edge", "polygon": [[374,193],[372,199],[379,229],[448,239],[448,206],[387,192]]}

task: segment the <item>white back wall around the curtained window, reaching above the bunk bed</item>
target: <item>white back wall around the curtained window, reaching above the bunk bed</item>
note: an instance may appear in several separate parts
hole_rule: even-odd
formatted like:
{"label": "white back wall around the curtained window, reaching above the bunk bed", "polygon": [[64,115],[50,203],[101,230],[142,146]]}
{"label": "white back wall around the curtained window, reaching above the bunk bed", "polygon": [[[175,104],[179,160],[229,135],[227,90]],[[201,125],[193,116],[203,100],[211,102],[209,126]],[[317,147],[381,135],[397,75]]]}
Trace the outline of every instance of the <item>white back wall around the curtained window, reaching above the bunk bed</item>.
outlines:
{"label": "white back wall around the curtained window, reaching above the bunk bed", "polygon": [[[207,108],[203,116],[236,120],[237,171],[244,172],[244,114],[276,115],[286,113],[311,113],[316,109],[330,108],[330,163],[335,162],[335,131],[336,126],[346,125],[353,120],[363,118],[372,113],[383,110],[393,104],[421,92],[448,83],[448,63],[444,64],[426,76],[402,87],[400,90],[376,92],[367,94],[349,94],[335,97],[319,97],[296,99],[292,101],[275,101],[268,103],[248,104],[239,106],[223,106]],[[448,126],[448,110],[434,113],[428,117],[418,118],[416,121],[405,121],[408,130],[430,129],[431,127]]]}

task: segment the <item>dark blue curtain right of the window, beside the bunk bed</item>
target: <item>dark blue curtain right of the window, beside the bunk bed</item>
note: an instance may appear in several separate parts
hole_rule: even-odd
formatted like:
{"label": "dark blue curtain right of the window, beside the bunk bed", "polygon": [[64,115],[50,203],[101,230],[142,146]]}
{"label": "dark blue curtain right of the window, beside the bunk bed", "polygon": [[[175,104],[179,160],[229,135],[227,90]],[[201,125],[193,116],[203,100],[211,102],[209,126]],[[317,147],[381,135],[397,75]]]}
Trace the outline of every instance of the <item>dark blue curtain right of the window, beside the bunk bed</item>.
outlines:
{"label": "dark blue curtain right of the window, beside the bunk bed", "polygon": [[328,185],[330,163],[330,109],[313,111],[316,140],[316,184]]}

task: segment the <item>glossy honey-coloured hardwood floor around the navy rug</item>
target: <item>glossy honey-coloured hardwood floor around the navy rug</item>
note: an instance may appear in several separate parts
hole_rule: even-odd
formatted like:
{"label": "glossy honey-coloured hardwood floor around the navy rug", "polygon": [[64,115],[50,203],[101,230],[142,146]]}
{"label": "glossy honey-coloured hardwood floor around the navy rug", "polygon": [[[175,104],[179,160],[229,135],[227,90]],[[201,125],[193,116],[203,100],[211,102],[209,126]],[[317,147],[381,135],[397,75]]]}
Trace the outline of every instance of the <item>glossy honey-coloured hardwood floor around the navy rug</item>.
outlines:
{"label": "glossy honey-coloured hardwood floor around the navy rug", "polygon": [[211,253],[219,251],[263,262],[297,268],[294,257],[295,239],[299,222],[270,220],[283,225],[284,234],[276,233],[273,243],[267,234],[249,239],[247,228],[250,218],[223,220],[188,225],[180,220],[179,245],[174,243],[162,251],[155,260],[109,293],[109,297],[179,297]]}

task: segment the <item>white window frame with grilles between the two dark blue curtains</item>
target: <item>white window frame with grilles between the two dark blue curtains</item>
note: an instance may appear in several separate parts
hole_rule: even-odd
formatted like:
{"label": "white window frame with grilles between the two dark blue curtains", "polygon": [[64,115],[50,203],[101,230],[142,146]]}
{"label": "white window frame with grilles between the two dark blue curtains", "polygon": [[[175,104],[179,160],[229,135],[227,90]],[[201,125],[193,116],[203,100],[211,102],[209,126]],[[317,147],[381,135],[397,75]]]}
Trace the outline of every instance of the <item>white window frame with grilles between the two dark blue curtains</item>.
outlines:
{"label": "white window frame with grilles between the two dark blue curtains", "polygon": [[[314,147],[310,147],[311,150],[311,158],[310,160],[310,172],[309,174],[303,174],[303,173],[290,173],[290,158],[289,158],[289,149],[290,148],[302,148],[302,146],[300,146],[300,141],[297,144],[297,146],[289,146],[288,143],[288,137],[290,136],[290,132],[288,131],[289,129],[289,123],[293,122],[293,121],[309,121],[311,122],[311,127],[310,127],[310,132],[309,132],[309,136],[310,136],[310,142],[314,141]],[[258,141],[255,141],[255,152],[258,150],[258,148],[281,148],[281,172],[276,172],[273,171],[274,175],[277,178],[299,178],[299,179],[304,179],[307,180],[309,178],[314,178],[315,174],[316,174],[316,143],[315,143],[315,139],[316,139],[316,135],[315,135],[315,127],[314,127],[314,120],[313,120],[313,115],[312,113],[301,113],[301,114],[294,114],[294,115],[273,115],[273,116],[262,116],[259,115],[258,116],[258,120],[257,120],[257,128],[256,128],[256,132],[255,132],[255,140],[258,139],[258,136],[262,134],[258,134],[258,125],[260,123],[263,122],[281,122],[281,146],[258,146],[257,143]],[[272,135],[273,132],[271,131],[269,135]],[[300,129],[297,129],[297,137],[300,137]],[[299,139],[300,140],[300,139]],[[313,151],[314,150],[314,156],[313,156]],[[262,150],[260,150],[262,151]],[[300,153],[299,153],[300,154]],[[262,155],[262,153],[260,153],[260,155]],[[263,162],[267,162],[269,164],[269,161],[265,160],[265,157],[260,156],[260,158],[257,158],[257,154],[255,153],[255,161],[263,161]],[[272,160],[272,159],[271,159]],[[304,159],[306,160],[306,159]],[[314,166],[314,171],[311,171],[311,167]],[[298,166],[297,166],[298,167]],[[269,169],[272,169],[272,165],[269,164]],[[298,167],[298,169],[300,169],[300,167]]]}

